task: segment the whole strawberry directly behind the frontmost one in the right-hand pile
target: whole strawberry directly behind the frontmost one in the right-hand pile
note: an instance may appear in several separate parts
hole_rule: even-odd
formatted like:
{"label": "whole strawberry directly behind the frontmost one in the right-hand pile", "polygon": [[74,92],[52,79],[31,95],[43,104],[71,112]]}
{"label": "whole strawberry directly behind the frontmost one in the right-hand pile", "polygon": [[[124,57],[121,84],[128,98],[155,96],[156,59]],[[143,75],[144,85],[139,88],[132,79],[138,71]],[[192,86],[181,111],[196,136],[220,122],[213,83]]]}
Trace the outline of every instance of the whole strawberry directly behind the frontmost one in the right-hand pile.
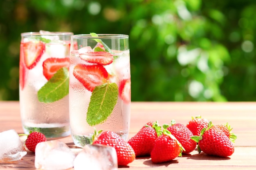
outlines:
{"label": "whole strawberry directly behind the frontmost one in the right-hand pile", "polygon": [[195,150],[196,142],[191,139],[193,133],[189,130],[189,128],[183,124],[176,124],[176,122],[173,120],[171,121],[171,126],[169,126],[167,130],[169,130],[184,147],[182,153],[187,154]]}

